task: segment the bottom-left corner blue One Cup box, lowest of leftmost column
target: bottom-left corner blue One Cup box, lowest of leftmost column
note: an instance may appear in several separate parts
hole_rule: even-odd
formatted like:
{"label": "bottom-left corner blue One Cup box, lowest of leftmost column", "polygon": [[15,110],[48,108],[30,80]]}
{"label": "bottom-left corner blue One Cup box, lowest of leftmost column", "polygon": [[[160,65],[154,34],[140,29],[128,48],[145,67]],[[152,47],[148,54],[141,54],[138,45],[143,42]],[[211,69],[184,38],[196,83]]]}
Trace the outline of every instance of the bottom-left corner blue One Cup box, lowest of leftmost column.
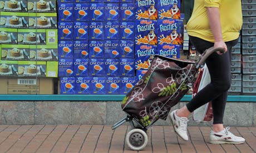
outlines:
{"label": "bottom-left corner blue One Cup box, lowest of leftmost column", "polygon": [[62,77],[60,80],[61,94],[75,94],[75,77]]}

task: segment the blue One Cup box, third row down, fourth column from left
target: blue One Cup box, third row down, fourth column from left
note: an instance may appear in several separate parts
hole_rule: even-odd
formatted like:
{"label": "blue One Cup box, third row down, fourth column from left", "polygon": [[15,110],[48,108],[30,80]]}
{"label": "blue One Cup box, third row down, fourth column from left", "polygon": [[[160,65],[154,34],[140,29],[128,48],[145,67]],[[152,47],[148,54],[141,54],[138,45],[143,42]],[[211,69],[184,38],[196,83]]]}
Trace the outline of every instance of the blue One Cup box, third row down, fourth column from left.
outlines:
{"label": "blue One Cup box, third row down, fourth column from left", "polygon": [[121,54],[118,49],[119,40],[105,40],[104,57],[105,58],[120,58]]}

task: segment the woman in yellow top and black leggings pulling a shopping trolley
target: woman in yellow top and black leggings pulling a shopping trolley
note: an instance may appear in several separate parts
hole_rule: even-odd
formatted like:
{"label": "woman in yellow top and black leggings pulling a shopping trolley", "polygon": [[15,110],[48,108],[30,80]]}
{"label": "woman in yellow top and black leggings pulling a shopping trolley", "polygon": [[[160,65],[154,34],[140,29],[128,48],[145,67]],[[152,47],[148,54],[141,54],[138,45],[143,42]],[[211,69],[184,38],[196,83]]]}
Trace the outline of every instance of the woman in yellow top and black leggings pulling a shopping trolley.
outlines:
{"label": "woman in yellow top and black leggings pulling a shopping trolley", "polygon": [[242,28],[242,6],[240,0],[195,0],[194,10],[187,30],[191,43],[202,54],[210,47],[223,47],[225,52],[213,53],[206,59],[211,83],[183,108],[170,113],[175,132],[188,140],[188,116],[201,105],[212,101],[213,130],[210,131],[212,144],[242,144],[245,139],[233,135],[229,127],[223,126],[223,115],[231,84],[231,50],[237,44]]}

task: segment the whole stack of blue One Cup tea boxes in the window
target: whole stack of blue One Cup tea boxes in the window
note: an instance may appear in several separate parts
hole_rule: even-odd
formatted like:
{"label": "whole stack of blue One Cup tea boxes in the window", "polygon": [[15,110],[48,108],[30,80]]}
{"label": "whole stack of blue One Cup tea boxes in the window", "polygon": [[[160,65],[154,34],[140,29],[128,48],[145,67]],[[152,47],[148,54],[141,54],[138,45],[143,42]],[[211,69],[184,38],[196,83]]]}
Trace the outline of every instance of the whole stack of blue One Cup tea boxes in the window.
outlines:
{"label": "whole stack of blue One Cup tea boxes in the window", "polygon": [[135,85],[134,0],[58,1],[61,94],[127,94]]}

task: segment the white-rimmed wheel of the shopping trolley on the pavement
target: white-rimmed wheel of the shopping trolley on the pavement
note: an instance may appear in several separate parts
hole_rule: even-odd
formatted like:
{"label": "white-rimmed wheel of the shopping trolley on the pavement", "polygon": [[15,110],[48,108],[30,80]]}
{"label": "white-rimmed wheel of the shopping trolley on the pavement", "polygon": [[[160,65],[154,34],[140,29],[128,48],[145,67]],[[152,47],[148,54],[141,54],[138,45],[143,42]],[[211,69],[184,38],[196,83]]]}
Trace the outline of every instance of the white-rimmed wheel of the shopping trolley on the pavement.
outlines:
{"label": "white-rimmed wheel of the shopping trolley on the pavement", "polygon": [[131,150],[142,150],[147,145],[147,134],[141,129],[132,129],[126,134],[126,144]]}

